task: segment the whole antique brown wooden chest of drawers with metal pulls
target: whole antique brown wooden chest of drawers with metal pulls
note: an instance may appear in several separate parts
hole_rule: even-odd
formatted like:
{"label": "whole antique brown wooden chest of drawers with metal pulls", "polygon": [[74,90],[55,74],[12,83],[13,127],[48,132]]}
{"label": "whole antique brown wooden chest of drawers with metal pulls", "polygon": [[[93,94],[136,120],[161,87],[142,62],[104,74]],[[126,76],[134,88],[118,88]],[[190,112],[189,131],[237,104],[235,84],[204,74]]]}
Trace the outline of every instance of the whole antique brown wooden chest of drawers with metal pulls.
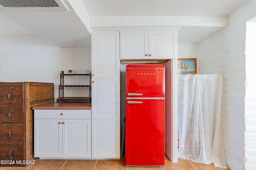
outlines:
{"label": "whole antique brown wooden chest of drawers with metal pulls", "polygon": [[34,160],[32,107],[54,102],[54,84],[0,82],[0,160]]}

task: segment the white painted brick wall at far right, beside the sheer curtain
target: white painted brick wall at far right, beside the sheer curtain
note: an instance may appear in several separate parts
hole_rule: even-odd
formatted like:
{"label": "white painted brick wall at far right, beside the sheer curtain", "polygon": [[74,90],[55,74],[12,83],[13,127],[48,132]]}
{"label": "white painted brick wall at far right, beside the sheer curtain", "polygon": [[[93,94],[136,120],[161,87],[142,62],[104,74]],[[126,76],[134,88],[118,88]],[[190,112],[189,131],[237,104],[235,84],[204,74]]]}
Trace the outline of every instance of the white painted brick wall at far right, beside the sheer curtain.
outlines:
{"label": "white painted brick wall at far right, beside the sheer curtain", "polygon": [[[256,169],[254,142],[256,117],[250,114],[255,113],[256,108],[245,107],[252,105],[245,100],[248,90],[246,83],[254,82],[255,86],[254,78],[250,77],[250,80],[247,80],[248,63],[245,55],[246,21],[256,16],[255,8],[256,1],[248,2],[229,16],[227,28],[199,44],[200,74],[221,73],[224,77],[222,91],[224,144],[227,164],[232,170]],[[249,61],[252,61],[252,56]],[[250,119],[247,116],[251,116]]]}

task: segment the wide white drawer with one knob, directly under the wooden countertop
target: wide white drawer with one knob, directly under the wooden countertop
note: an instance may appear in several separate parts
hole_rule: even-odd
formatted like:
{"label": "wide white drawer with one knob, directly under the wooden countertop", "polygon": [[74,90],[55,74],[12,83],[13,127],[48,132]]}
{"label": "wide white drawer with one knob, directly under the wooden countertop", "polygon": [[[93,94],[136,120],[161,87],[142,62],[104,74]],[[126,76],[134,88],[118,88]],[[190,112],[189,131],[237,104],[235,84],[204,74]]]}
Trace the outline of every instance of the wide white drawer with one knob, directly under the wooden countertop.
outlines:
{"label": "wide white drawer with one knob, directly under the wooden countertop", "polygon": [[38,109],[34,110],[34,119],[91,119],[91,110]]}

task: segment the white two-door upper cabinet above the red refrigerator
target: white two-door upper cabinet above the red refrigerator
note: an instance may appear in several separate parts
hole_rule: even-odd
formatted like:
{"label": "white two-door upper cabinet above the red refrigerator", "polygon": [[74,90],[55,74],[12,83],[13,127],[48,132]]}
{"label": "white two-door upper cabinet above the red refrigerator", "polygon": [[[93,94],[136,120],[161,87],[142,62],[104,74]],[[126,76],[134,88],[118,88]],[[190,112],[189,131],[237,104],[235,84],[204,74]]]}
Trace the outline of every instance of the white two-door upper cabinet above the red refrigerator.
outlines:
{"label": "white two-door upper cabinet above the red refrigerator", "polygon": [[120,59],[176,59],[177,31],[120,31]]}

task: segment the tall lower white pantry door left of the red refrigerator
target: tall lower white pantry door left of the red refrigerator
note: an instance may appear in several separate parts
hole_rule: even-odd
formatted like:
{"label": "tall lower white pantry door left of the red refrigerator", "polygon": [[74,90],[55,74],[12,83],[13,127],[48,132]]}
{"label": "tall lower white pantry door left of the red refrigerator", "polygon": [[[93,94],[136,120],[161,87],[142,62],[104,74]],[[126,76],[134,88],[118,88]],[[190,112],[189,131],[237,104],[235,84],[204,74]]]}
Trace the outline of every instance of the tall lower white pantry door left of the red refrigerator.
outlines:
{"label": "tall lower white pantry door left of the red refrigerator", "polygon": [[92,80],[92,158],[119,158],[120,80]]}

